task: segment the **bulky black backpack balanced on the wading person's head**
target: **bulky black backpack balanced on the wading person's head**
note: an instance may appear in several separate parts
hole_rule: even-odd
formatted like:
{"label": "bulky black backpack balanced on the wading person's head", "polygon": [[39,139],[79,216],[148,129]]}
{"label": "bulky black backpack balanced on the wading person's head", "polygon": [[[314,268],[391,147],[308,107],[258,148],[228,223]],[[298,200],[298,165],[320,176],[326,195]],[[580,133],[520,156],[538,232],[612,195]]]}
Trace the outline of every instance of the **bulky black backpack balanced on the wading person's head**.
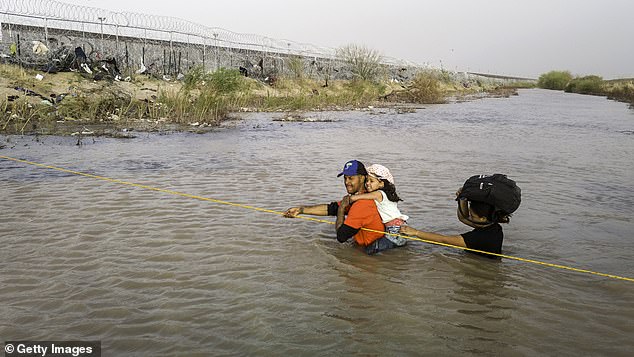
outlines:
{"label": "bulky black backpack balanced on the wading person's head", "polygon": [[458,198],[480,201],[495,207],[499,216],[515,212],[522,201],[522,190],[502,174],[475,175],[465,181]]}

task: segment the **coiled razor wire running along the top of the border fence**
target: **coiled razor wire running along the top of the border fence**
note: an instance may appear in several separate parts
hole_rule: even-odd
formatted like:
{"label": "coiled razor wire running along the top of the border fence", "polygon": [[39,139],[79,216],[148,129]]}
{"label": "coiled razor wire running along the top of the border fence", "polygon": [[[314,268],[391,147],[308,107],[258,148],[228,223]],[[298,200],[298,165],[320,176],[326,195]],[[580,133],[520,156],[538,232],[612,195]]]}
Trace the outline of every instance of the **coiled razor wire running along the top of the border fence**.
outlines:
{"label": "coiled razor wire running along the top of the border fence", "polygon": [[[239,50],[261,51],[284,56],[334,59],[336,49],[288,39],[239,33],[191,21],[134,12],[116,12],[56,0],[0,0],[0,22],[57,30],[88,32],[102,37],[133,37],[189,43]],[[383,56],[388,65],[417,65]]]}

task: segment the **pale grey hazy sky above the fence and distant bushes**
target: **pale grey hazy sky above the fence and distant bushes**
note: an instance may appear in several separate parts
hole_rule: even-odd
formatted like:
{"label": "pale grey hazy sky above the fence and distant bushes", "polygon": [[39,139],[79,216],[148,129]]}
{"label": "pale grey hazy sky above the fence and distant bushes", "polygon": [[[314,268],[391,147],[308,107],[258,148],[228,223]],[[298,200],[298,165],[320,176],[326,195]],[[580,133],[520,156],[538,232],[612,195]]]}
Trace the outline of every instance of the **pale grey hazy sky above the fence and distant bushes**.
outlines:
{"label": "pale grey hazy sky above the fence and distant bushes", "polygon": [[318,46],[365,45],[459,71],[634,77],[632,0],[60,1]]}

